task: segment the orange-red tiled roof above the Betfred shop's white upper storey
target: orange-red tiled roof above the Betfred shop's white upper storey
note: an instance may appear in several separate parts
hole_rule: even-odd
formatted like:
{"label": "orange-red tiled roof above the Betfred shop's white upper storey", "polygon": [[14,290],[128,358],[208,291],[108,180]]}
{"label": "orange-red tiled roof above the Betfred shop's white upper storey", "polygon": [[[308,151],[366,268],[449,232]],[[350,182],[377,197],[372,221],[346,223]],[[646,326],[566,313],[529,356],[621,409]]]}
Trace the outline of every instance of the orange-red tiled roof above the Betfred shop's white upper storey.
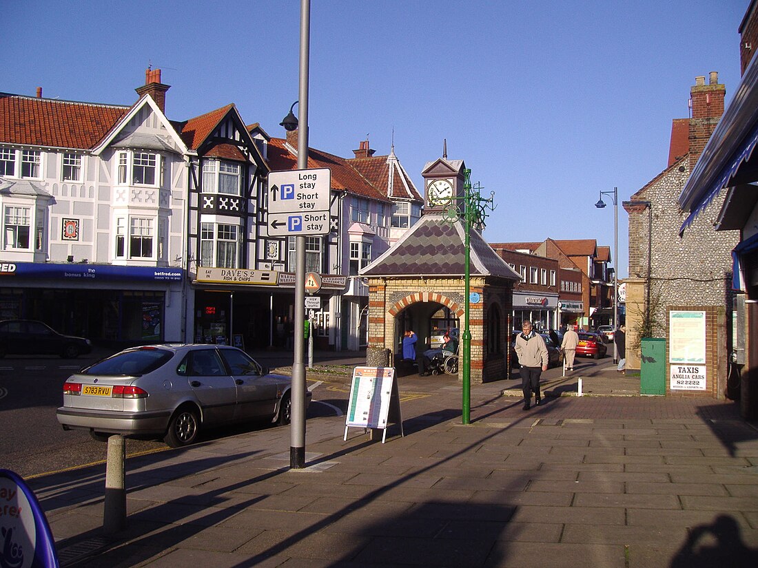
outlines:
{"label": "orange-red tiled roof above the Betfred shop's white upper storey", "polygon": [[0,93],[0,142],[94,148],[130,108]]}

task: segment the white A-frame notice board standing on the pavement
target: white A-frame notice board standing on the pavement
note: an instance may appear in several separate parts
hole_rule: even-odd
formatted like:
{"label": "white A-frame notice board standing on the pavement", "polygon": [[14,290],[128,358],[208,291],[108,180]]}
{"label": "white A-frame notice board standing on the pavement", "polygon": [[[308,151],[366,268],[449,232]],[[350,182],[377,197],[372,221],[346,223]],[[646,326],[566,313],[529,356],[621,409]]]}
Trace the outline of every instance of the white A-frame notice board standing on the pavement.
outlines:
{"label": "white A-frame notice board standing on the pavement", "polygon": [[381,429],[384,444],[390,422],[398,423],[405,435],[394,367],[356,367],[352,370],[344,439],[350,427]]}

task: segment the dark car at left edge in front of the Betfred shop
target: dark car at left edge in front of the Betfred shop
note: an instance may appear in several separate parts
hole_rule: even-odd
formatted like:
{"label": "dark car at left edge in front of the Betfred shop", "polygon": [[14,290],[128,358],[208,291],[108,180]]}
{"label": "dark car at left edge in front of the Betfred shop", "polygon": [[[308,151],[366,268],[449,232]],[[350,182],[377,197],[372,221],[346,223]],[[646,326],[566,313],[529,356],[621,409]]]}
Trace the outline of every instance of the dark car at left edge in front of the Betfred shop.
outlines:
{"label": "dark car at left edge in front of the Betfred shop", "polygon": [[0,321],[0,357],[60,355],[70,359],[90,351],[92,351],[92,342],[89,339],[63,335],[41,321]]}

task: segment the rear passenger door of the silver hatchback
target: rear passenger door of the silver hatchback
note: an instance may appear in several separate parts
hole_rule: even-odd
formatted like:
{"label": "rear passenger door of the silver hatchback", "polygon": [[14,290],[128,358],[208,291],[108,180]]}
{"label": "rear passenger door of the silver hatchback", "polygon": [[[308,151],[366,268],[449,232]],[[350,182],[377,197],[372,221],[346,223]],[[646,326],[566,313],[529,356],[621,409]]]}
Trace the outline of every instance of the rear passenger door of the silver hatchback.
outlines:
{"label": "rear passenger door of the silver hatchback", "polygon": [[189,352],[187,382],[202,407],[204,423],[230,422],[236,407],[236,384],[215,348]]}

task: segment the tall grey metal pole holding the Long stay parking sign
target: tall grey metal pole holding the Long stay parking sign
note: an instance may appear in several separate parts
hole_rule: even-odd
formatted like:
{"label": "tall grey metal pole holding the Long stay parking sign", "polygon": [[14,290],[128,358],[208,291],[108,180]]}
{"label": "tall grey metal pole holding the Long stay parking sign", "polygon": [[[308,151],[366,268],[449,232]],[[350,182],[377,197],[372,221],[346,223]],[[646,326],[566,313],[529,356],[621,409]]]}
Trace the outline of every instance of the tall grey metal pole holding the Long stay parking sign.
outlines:
{"label": "tall grey metal pole holding the Long stay parking sign", "polygon": [[[311,2],[300,0],[300,89],[297,136],[297,168],[308,167],[308,73],[310,59]],[[290,467],[305,467],[305,237],[295,237],[295,354],[292,364],[292,423]]]}

